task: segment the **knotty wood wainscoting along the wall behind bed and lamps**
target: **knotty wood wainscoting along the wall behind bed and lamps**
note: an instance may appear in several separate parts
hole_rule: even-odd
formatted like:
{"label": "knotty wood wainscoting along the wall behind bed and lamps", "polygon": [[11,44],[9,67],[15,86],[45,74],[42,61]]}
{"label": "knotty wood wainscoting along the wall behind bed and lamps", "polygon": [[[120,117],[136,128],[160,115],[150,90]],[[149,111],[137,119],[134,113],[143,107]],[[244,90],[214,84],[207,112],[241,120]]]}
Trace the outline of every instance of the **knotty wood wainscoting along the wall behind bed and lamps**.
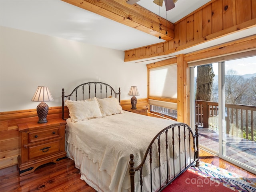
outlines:
{"label": "knotty wood wainscoting along the wall behind bed and lamps", "polygon": [[[131,106],[130,100],[122,100],[121,106]],[[137,106],[147,107],[148,99],[138,99]],[[68,112],[68,108],[65,107]],[[47,119],[61,118],[62,107],[50,107]],[[36,109],[0,112],[0,169],[18,164],[21,153],[20,132],[17,124],[38,120]]]}

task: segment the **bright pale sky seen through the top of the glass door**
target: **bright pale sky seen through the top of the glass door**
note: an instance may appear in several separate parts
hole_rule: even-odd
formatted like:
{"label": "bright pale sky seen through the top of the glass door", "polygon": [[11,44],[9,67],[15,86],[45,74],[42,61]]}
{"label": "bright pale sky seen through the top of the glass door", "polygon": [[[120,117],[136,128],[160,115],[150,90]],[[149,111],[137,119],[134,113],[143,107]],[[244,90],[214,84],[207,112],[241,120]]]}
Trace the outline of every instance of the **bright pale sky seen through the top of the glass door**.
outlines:
{"label": "bright pale sky seen through the top of the glass door", "polygon": [[[256,56],[225,61],[225,71],[233,69],[237,75],[256,73]],[[213,64],[215,74],[218,74],[218,64]]]}

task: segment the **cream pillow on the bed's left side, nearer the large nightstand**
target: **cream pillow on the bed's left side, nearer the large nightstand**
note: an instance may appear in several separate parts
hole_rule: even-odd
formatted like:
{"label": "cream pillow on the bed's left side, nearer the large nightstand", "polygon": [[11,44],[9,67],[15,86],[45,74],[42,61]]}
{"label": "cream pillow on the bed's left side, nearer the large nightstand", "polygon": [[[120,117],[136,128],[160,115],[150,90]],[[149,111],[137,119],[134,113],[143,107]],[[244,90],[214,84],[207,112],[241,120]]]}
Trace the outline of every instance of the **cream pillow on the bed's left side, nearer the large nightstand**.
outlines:
{"label": "cream pillow on the bed's left side, nearer the large nightstand", "polygon": [[69,116],[73,122],[102,117],[96,98],[82,101],[66,100],[65,104],[68,107]]}

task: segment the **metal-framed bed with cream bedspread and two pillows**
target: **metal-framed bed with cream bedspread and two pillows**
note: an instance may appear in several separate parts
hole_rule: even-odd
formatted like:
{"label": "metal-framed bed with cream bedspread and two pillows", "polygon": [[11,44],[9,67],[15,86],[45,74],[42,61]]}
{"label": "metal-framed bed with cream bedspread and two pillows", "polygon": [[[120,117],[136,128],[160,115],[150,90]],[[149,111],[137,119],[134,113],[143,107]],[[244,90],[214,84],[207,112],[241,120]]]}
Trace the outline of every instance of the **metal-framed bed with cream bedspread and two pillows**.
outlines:
{"label": "metal-framed bed with cream bedspread and two pillows", "polygon": [[[67,106],[67,107],[66,107]],[[199,166],[198,129],[122,110],[118,92],[103,82],[62,89],[66,152],[81,179],[98,192],[162,191]]]}

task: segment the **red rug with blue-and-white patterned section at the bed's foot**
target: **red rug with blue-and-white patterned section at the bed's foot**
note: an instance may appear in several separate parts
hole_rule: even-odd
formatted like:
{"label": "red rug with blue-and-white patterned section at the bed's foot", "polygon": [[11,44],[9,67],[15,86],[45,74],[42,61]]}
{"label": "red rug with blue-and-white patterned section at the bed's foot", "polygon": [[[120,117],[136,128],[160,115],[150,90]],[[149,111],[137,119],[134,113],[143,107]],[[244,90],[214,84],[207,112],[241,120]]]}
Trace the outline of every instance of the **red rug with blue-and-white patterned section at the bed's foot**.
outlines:
{"label": "red rug with blue-and-white patterned section at the bed's foot", "polygon": [[243,178],[214,165],[192,166],[163,192],[256,192],[256,178]]}

